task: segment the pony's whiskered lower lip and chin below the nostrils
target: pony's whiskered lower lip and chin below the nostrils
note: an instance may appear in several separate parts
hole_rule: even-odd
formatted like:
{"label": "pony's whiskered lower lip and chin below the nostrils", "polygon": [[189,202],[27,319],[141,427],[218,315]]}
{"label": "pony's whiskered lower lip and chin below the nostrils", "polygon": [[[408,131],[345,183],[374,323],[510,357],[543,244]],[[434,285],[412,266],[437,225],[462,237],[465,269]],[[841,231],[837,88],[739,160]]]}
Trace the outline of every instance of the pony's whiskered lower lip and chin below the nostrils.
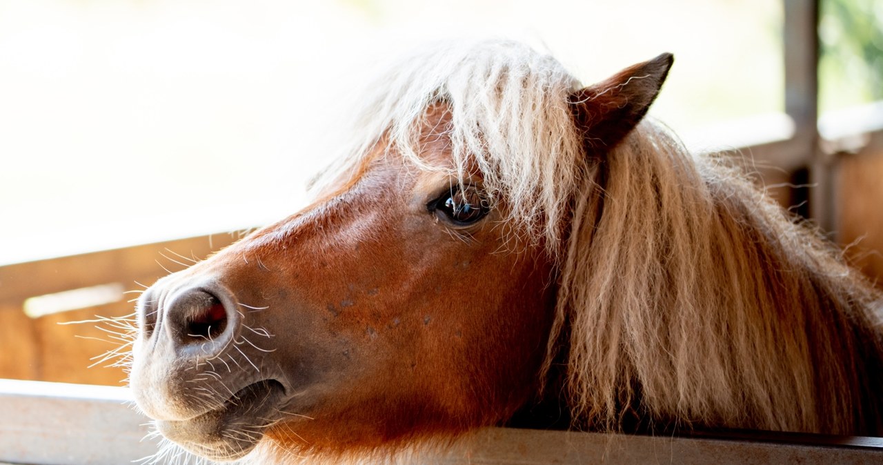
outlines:
{"label": "pony's whiskered lower lip and chin below the nostrils", "polygon": [[285,388],[275,379],[263,379],[240,389],[218,409],[187,420],[159,420],[167,439],[192,454],[215,461],[237,460],[248,454],[274,424]]}

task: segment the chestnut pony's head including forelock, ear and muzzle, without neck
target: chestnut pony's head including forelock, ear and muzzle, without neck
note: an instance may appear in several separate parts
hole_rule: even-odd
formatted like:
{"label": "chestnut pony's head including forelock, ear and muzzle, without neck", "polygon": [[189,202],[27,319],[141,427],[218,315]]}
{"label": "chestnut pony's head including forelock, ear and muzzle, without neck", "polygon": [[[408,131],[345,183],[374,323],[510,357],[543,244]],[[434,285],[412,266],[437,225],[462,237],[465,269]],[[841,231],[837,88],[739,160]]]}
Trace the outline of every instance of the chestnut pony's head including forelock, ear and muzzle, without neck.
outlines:
{"label": "chestnut pony's head including forelock, ear and muzzle, without neck", "polygon": [[140,409],[220,460],[506,422],[555,357],[575,208],[671,63],[583,88],[510,42],[405,57],[353,102],[311,206],[141,296]]}

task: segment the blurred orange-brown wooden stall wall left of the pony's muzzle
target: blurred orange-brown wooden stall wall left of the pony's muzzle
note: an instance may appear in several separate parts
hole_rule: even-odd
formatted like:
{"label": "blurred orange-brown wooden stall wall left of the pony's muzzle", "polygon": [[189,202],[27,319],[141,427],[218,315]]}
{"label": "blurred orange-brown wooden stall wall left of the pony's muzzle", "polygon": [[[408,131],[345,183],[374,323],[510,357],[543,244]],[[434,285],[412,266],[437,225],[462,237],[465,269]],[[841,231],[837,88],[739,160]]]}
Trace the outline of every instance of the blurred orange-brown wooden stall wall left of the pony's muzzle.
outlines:
{"label": "blurred orange-brown wooden stall wall left of the pony's muzzle", "polygon": [[[94,364],[95,356],[116,348],[119,341],[94,323],[69,323],[93,320],[96,315],[130,315],[134,311],[130,300],[137,294],[122,295],[114,303],[36,319],[25,315],[25,300],[109,283],[137,291],[143,289],[139,284],[149,286],[168,274],[166,269],[185,268],[188,260],[176,254],[205,259],[237,238],[229,234],[201,236],[0,266],[0,378],[122,386],[125,372],[121,368],[87,368]],[[98,366],[103,365],[106,364]]]}

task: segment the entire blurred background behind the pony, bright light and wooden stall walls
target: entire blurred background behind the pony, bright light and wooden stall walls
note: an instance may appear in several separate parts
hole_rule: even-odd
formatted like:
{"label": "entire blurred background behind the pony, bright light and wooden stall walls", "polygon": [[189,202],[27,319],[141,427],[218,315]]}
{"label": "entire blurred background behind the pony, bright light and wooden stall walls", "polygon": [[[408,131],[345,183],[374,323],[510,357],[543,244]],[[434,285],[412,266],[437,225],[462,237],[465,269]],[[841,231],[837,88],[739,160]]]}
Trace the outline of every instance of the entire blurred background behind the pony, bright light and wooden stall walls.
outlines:
{"label": "entire blurred background behind the pony, bright light and wooden stall walls", "polygon": [[119,383],[82,374],[98,346],[54,358],[83,331],[56,323],[131,312],[135,281],[297,211],[343,90],[464,35],[531,42],[585,84],[674,53],[651,113],[864,237],[850,259],[883,276],[879,0],[0,0],[0,378]]}

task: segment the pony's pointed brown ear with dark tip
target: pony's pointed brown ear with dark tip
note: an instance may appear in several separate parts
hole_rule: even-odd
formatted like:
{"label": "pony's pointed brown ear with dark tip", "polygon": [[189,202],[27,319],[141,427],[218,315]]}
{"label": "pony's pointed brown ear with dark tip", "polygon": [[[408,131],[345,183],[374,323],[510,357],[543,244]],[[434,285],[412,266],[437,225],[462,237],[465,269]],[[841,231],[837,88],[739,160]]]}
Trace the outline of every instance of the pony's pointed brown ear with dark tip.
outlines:
{"label": "pony's pointed brown ear with dark tip", "polygon": [[570,109],[585,146],[613,148],[647,113],[675,57],[663,53],[570,94]]}

